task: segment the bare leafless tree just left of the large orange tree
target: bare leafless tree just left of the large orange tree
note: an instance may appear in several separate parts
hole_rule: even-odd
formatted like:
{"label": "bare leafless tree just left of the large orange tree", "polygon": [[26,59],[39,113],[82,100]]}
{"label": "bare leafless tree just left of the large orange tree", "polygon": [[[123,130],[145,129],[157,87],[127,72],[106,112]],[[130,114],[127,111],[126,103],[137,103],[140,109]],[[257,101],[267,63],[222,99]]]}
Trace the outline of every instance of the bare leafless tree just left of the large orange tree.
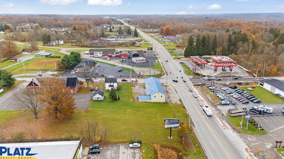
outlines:
{"label": "bare leafless tree just left of the large orange tree", "polygon": [[43,109],[44,102],[40,101],[35,94],[27,92],[24,89],[21,89],[20,92],[13,92],[14,100],[18,103],[18,108],[20,110],[31,111],[35,116],[35,119],[38,119],[38,113]]}

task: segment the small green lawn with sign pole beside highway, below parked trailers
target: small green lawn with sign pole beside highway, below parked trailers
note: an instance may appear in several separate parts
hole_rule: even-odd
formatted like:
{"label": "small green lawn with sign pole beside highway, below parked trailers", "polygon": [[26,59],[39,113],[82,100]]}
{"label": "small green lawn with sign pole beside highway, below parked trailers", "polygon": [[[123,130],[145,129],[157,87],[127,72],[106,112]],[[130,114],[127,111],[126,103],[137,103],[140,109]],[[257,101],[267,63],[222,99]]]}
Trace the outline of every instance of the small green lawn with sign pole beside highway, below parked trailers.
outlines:
{"label": "small green lawn with sign pole beside highway, below parked trailers", "polygon": [[[242,122],[242,117],[231,117],[230,115],[227,115],[228,120],[234,125],[234,127],[238,128],[240,127],[240,122]],[[261,126],[261,125],[260,125]],[[245,134],[252,134],[252,135],[265,135],[267,132],[265,130],[258,130],[255,126],[253,126],[251,123],[248,123],[248,131],[246,131],[246,118],[243,118],[242,123],[242,129],[240,129],[242,133]],[[257,131],[257,132],[256,132]]]}

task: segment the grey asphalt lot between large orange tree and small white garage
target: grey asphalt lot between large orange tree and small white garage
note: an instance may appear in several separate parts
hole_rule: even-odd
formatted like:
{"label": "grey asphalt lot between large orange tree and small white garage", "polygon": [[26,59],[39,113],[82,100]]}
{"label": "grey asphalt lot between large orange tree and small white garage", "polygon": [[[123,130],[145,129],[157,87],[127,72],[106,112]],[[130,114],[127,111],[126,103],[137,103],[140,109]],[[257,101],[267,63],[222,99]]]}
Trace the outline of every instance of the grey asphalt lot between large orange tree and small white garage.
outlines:
{"label": "grey asphalt lot between large orange tree and small white garage", "polygon": [[74,94],[73,97],[77,106],[76,110],[88,110],[92,96],[92,91],[87,94]]}

